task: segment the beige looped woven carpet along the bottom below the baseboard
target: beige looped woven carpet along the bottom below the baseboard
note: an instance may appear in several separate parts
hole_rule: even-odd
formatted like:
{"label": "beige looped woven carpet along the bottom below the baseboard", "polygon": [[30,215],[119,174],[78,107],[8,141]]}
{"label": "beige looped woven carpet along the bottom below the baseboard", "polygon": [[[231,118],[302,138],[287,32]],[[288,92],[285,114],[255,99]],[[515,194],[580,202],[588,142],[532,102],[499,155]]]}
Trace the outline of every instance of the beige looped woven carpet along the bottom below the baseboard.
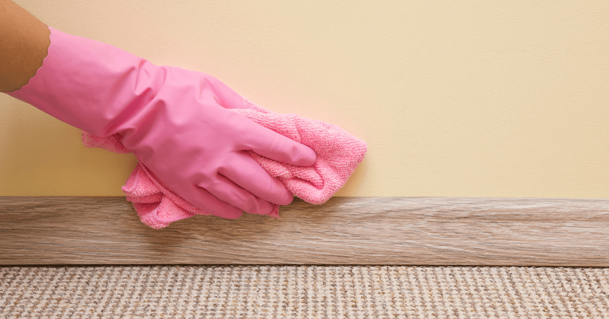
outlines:
{"label": "beige looped woven carpet along the bottom below the baseboard", "polygon": [[0,268],[0,318],[608,318],[609,268]]}

